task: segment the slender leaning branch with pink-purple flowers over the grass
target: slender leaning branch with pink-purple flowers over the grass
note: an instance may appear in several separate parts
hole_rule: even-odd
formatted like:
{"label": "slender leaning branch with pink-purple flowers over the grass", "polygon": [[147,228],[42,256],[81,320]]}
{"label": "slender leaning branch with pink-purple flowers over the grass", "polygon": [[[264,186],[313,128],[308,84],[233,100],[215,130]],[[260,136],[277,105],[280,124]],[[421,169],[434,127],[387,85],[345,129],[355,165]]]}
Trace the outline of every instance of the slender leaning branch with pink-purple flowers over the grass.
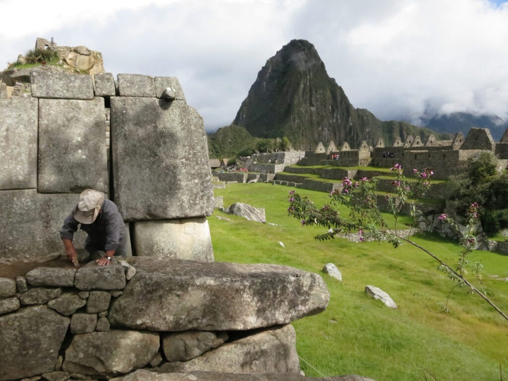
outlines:
{"label": "slender leaning branch with pink-purple flowers over the grass", "polygon": [[[397,220],[403,206],[407,203],[411,206],[411,215],[416,217],[419,211],[416,208],[416,198],[423,196],[430,187],[430,178],[433,175],[431,169],[426,168],[422,172],[413,170],[416,180],[408,181],[403,175],[402,168],[396,164],[392,169],[395,173],[394,196],[387,195],[387,202],[395,218],[395,229],[389,230],[388,224],[380,213],[375,194],[378,180],[376,177],[363,177],[359,181],[349,178],[342,180],[342,188],[330,193],[330,201],[321,208],[314,205],[307,198],[302,198],[294,190],[290,192],[289,215],[301,220],[303,226],[317,225],[328,229],[324,234],[315,236],[316,240],[334,239],[338,233],[358,232],[360,241],[373,238],[378,241],[385,240],[398,247],[402,242],[418,247],[427,255],[439,263],[438,269],[448,275],[450,279],[459,285],[467,286],[472,293],[479,295],[491,305],[501,316],[508,321],[508,316],[501,311],[485,295],[481,283],[481,263],[469,263],[468,257],[476,247],[475,226],[479,217],[478,203],[471,203],[467,209],[467,231],[462,239],[462,252],[456,266],[453,268],[438,258],[434,253],[411,240],[410,232],[402,235],[397,229]],[[338,205],[344,205],[350,210],[348,216],[343,216],[337,210]],[[443,224],[448,223],[457,227],[454,221],[446,214],[441,214],[439,219]],[[466,278],[466,269],[471,269],[474,280]],[[479,283],[478,287],[473,282]]]}

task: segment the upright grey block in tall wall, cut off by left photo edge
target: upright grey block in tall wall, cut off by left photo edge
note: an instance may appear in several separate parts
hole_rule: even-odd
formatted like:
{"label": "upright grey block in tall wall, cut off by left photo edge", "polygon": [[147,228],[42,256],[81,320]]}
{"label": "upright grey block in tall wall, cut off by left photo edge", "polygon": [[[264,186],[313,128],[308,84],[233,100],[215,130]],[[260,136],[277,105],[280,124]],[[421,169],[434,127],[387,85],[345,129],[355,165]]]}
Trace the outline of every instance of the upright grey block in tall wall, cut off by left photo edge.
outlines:
{"label": "upright grey block in tall wall, cut off by left photo edge", "polygon": [[0,189],[37,187],[35,98],[0,100]]}

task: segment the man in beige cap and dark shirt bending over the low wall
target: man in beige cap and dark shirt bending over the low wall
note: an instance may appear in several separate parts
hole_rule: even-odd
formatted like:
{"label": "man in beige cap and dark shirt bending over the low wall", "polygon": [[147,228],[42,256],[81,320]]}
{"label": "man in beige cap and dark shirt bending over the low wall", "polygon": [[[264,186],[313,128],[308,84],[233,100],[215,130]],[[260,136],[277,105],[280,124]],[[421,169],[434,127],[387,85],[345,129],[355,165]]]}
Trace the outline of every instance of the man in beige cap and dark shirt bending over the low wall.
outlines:
{"label": "man in beige cap and dark shirt bending over the low wall", "polygon": [[85,249],[94,256],[96,251],[104,251],[104,257],[96,260],[99,266],[109,265],[113,256],[126,256],[128,232],[122,216],[113,201],[105,199],[105,194],[93,189],[84,190],[74,210],[63,221],[60,237],[65,246],[67,257],[77,264],[76,250],[73,244],[74,233],[81,224],[81,230],[88,236]]}

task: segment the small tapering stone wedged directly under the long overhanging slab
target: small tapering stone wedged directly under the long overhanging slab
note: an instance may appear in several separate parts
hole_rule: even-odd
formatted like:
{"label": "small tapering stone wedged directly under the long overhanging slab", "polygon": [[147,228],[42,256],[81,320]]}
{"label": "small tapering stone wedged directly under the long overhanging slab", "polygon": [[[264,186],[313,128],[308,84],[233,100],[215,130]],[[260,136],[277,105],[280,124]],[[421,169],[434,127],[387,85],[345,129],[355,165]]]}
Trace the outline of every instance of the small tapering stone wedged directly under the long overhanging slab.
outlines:
{"label": "small tapering stone wedged directly under the long overhanging slab", "polygon": [[162,345],[168,361],[187,361],[227,340],[226,332],[187,331],[166,335]]}

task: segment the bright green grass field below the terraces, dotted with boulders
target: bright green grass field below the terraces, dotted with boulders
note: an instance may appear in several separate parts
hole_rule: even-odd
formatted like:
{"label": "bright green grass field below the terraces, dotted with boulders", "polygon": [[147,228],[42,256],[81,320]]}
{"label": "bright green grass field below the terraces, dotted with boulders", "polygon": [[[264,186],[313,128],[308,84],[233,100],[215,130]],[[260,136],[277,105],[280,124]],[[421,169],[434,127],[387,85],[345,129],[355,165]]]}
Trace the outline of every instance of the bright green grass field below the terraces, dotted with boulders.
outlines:
{"label": "bright green grass field below the terraces, dotted with boulders", "polygon": [[[424,369],[438,380],[499,380],[499,364],[508,372],[508,324],[481,298],[456,288],[448,303],[450,312],[438,313],[454,283],[436,270],[429,256],[411,245],[394,249],[387,243],[357,244],[341,238],[315,241],[312,237],[323,229],[302,227],[287,216],[292,189],[260,183],[214,190],[225,206],[240,201],[266,208],[267,223],[276,226],[218,210],[208,220],[216,261],[274,263],[315,273],[332,262],[341,270],[342,282],[321,273],[331,294],[327,309],[293,323],[302,359],[326,376],[355,373],[377,381],[424,380]],[[328,196],[297,192],[317,205]],[[214,215],[227,216],[233,223]],[[408,217],[404,218],[402,225]],[[456,242],[436,235],[421,235],[415,241],[451,264],[460,251]],[[508,257],[475,251],[471,261],[478,260],[484,264],[488,296],[507,311],[508,282],[491,275],[508,277]],[[368,298],[366,284],[388,292],[398,308]],[[303,360],[301,367],[309,376],[321,376]]]}

